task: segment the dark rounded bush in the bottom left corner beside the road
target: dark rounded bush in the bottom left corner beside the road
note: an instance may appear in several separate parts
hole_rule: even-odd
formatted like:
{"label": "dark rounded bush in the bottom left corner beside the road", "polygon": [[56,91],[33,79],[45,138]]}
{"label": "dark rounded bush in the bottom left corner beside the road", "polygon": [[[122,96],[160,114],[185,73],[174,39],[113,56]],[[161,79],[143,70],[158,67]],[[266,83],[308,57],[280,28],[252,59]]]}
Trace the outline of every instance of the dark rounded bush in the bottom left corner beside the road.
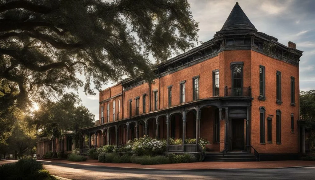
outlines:
{"label": "dark rounded bush in the bottom left corner beside the road", "polygon": [[15,163],[0,165],[1,177],[7,180],[55,179],[44,170],[43,164],[33,158],[23,158]]}

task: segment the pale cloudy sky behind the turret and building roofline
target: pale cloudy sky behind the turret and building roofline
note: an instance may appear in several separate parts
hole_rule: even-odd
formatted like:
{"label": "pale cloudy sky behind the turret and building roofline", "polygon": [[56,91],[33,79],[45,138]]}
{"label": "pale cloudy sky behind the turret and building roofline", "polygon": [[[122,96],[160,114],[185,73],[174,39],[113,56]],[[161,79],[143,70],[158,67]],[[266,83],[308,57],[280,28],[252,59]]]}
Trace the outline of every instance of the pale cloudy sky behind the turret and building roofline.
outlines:
{"label": "pale cloudy sky behind the turret and building roofline", "polygon": [[[259,32],[278,38],[288,46],[292,41],[302,50],[300,90],[315,89],[315,0],[188,0],[193,19],[199,22],[199,40],[206,42],[220,31],[238,2]],[[199,44],[200,45],[200,44]],[[175,55],[174,55],[175,56]],[[152,59],[152,61],[154,61]],[[112,86],[107,84],[103,89]],[[99,94],[85,95],[79,89],[82,104],[99,119]]]}

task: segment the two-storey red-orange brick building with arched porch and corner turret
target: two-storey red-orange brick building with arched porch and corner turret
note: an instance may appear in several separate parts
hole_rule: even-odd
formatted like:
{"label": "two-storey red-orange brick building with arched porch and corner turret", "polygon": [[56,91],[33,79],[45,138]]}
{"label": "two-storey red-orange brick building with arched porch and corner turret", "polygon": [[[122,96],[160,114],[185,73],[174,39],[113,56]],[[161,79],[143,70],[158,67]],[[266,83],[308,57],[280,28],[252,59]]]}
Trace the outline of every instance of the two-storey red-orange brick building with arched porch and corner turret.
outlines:
{"label": "two-storey red-orange brick building with arched porch and corner turret", "polygon": [[[203,138],[213,152],[296,157],[301,55],[294,43],[258,32],[236,3],[213,39],[159,64],[154,83],[127,78],[101,91],[100,121],[82,137],[95,146],[145,134]],[[168,144],[167,151],[199,149]]]}

